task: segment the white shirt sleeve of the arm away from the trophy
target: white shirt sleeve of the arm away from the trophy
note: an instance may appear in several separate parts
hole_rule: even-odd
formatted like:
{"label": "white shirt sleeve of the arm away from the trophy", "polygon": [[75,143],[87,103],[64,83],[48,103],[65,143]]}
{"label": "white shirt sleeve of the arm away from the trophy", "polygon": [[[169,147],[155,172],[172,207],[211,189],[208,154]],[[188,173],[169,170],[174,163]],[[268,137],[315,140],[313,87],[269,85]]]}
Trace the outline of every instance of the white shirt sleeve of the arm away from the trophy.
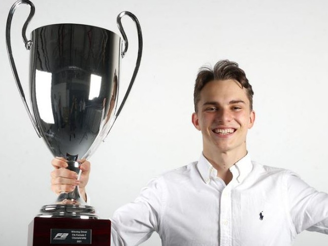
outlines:
{"label": "white shirt sleeve of the arm away from the trophy", "polygon": [[286,178],[290,215],[297,233],[309,230],[328,234],[328,194],[310,187],[291,171]]}

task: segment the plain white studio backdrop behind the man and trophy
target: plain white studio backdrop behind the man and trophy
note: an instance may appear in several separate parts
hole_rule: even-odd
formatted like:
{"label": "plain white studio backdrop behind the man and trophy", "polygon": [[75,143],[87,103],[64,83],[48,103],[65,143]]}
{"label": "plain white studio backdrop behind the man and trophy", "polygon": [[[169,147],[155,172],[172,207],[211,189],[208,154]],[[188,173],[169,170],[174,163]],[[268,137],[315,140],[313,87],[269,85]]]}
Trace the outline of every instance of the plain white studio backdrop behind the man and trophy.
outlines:
{"label": "plain white studio backdrop behind the man and trophy", "polygon": [[[27,28],[82,23],[119,33],[124,10],[139,19],[144,38],[140,72],[105,143],[91,157],[88,193],[101,218],[135,199],[154,175],[198,159],[200,132],[191,124],[198,68],[219,59],[237,61],[254,88],[255,126],[248,150],[260,163],[296,171],[328,192],[328,2],[262,1],[33,1]],[[52,156],[32,127],[8,61],[5,26],[14,1],[0,3],[0,245],[26,245],[27,226],[50,190]],[[27,89],[29,53],[21,28],[29,13],[21,5],[12,24],[13,51]],[[121,65],[121,88],[132,76],[137,34],[122,19],[129,50]],[[125,83],[125,84],[124,84]],[[121,92],[122,92],[121,91]],[[26,90],[26,94],[28,94]],[[327,245],[328,237],[303,232],[296,246]],[[143,245],[160,245],[157,235]]]}

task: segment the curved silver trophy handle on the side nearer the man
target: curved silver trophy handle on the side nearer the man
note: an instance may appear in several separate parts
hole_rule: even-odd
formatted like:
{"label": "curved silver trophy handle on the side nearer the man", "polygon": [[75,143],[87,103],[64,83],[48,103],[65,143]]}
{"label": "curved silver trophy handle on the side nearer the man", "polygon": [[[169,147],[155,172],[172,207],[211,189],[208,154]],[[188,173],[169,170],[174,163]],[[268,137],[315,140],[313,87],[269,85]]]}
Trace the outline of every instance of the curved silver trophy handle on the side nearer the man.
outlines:
{"label": "curved silver trophy handle on the side nearer the man", "polygon": [[[135,82],[135,79],[136,79],[136,76],[137,76],[137,73],[138,73],[138,70],[139,70],[139,66],[140,66],[141,55],[142,55],[142,44],[143,43],[142,43],[142,33],[141,33],[141,27],[140,27],[139,21],[138,21],[137,17],[133,13],[128,12],[128,11],[123,11],[123,12],[121,12],[117,16],[117,26],[118,26],[119,31],[122,34],[123,43],[124,43],[124,50],[121,52],[121,56],[122,56],[122,58],[124,57],[124,55],[125,55],[125,53],[127,51],[127,48],[128,48],[128,41],[127,41],[126,34],[125,34],[125,31],[123,29],[122,22],[121,22],[121,18],[124,15],[129,16],[131,19],[133,19],[133,21],[136,24],[137,31],[138,31],[138,56],[137,56],[137,62],[136,62],[136,66],[135,66],[135,71],[134,71],[134,73],[132,75],[130,84],[127,87],[127,90],[126,90],[125,95],[124,95],[124,97],[122,99],[122,102],[120,104],[120,107],[118,108],[118,110],[117,110],[117,112],[116,112],[116,114],[114,116],[113,123],[110,126],[109,131],[112,129],[112,127],[114,125],[114,122],[116,121],[117,116],[121,113],[121,110],[122,110],[122,108],[124,106],[124,103],[125,103],[125,101],[127,99],[127,96],[129,95],[130,90],[131,90],[131,88],[132,88],[132,86],[133,86],[133,84]],[[123,43],[122,43],[122,46],[123,46]],[[103,141],[105,141],[106,137],[109,134],[109,131],[108,131],[107,135],[104,137]]]}

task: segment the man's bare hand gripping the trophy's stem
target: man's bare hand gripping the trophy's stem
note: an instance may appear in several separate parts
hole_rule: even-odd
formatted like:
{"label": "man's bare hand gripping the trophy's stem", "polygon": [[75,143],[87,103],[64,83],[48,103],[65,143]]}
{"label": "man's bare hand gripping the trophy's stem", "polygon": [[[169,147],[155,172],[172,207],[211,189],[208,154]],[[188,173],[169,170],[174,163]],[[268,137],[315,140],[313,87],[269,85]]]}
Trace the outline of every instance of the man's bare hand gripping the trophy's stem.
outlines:
{"label": "man's bare hand gripping the trophy's stem", "polygon": [[62,157],[52,159],[51,164],[55,168],[51,172],[51,190],[57,195],[61,192],[71,192],[75,186],[79,186],[81,197],[86,201],[85,186],[89,180],[90,162],[82,159],[80,169],[82,170],[80,180],[77,180],[78,174],[75,171],[67,169],[68,164]]}

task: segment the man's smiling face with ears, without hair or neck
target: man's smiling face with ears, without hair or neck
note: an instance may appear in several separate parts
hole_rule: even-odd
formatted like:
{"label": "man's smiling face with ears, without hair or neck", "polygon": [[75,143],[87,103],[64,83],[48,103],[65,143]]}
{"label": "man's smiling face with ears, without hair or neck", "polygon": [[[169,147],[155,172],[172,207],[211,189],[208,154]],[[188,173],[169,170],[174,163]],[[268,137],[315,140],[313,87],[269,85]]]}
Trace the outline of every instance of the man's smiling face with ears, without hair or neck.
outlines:
{"label": "man's smiling face with ears, without hair or neck", "polygon": [[202,131],[204,154],[245,153],[247,130],[255,119],[246,90],[235,80],[214,80],[204,86],[200,95],[192,123]]}

